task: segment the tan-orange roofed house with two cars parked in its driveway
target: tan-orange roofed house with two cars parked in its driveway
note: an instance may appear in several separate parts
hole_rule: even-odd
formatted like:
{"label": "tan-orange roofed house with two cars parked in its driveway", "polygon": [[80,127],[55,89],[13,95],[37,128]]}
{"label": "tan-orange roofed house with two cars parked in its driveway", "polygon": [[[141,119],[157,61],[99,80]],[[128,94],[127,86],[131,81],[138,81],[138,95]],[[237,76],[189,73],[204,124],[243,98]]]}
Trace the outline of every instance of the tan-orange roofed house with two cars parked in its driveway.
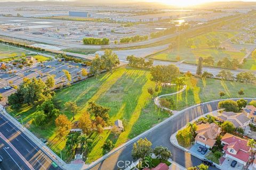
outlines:
{"label": "tan-orange roofed house with two cars parked in its driveway", "polygon": [[197,125],[196,143],[212,148],[216,142],[216,138],[221,132],[221,128],[215,123],[202,123]]}

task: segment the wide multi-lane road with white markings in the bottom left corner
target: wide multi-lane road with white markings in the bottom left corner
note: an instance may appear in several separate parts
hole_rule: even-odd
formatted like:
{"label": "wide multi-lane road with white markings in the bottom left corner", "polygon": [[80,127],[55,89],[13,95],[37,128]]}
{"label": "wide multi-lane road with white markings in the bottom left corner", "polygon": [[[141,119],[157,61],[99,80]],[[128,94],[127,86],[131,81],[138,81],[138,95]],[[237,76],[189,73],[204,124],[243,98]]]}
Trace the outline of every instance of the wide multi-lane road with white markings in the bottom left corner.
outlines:
{"label": "wide multi-lane road with white markings in the bottom left corner", "polygon": [[[6,138],[6,140],[10,142],[8,145],[9,149],[6,149],[7,152],[10,151],[10,155],[3,154],[4,162],[12,157],[13,160],[17,162],[17,164],[12,162],[8,162],[8,164],[4,163],[3,166],[5,169],[62,169],[59,166],[54,167],[53,164],[55,163],[53,160],[14,124],[7,120],[2,112],[0,113],[0,134],[2,138]],[[6,143],[4,145],[6,146]],[[1,146],[2,145],[0,144],[0,149]],[[18,165],[20,166],[19,168],[15,167]]]}

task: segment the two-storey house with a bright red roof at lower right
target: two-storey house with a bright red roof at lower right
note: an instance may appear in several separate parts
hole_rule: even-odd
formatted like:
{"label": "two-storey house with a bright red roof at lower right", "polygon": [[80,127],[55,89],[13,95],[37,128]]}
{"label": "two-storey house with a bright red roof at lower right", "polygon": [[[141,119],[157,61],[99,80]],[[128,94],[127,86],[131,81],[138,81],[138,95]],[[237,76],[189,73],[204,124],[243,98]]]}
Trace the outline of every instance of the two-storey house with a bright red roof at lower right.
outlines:
{"label": "two-storey house with a bright red roof at lower right", "polygon": [[235,135],[226,133],[221,139],[224,157],[236,160],[244,166],[250,158],[251,147],[247,146],[247,140],[238,138]]}

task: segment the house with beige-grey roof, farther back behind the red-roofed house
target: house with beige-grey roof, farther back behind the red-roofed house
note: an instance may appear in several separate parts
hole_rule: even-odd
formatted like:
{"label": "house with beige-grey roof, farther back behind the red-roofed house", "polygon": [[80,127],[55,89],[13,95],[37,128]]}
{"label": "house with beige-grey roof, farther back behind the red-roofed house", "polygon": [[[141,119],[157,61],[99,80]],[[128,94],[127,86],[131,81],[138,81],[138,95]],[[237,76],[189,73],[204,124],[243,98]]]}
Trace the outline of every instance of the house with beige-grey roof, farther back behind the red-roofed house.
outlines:
{"label": "house with beige-grey roof, farther back behind the red-roofed house", "polygon": [[217,116],[221,122],[229,121],[235,125],[235,128],[246,129],[249,126],[250,119],[244,113],[222,112]]}

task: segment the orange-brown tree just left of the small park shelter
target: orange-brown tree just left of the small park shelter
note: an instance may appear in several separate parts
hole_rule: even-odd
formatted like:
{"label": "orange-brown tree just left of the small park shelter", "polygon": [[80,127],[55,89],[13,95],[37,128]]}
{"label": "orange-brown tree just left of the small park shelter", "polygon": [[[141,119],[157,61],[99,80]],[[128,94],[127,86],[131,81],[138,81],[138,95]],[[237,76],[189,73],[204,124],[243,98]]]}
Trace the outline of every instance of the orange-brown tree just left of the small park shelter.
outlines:
{"label": "orange-brown tree just left of the small park shelter", "polygon": [[81,117],[79,117],[78,120],[78,127],[82,129],[83,133],[89,135],[92,132],[92,120],[90,117],[90,114],[83,113]]}

